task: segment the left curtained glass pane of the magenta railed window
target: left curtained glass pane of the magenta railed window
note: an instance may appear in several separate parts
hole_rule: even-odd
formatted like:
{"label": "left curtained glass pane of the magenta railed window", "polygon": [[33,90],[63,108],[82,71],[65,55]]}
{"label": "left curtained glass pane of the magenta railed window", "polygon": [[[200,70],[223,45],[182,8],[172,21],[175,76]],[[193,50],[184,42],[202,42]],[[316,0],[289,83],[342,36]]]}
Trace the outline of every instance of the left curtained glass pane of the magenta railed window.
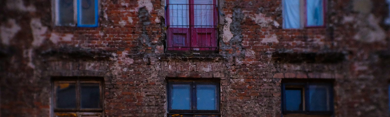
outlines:
{"label": "left curtained glass pane of the magenta railed window", "polygon": [[169,25],[172,27],[188,28],[189,6],[188,0],[169,0]]}

